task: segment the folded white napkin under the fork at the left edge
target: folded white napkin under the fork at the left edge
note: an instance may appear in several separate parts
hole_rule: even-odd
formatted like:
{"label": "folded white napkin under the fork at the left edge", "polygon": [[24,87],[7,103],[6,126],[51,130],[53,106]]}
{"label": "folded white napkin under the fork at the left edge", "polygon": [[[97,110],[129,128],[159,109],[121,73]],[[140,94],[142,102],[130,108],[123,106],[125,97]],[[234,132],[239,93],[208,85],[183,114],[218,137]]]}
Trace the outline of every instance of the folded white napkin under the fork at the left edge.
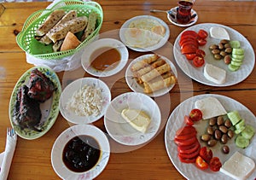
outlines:
{"label": "folded white napkin under the fork at the left edge", "polygon": [[15,147],[17,142],[17,135],[6,137],[5,150],[0,154],[0,180],[7,179],[9,175],[9,168],[15,154]]}

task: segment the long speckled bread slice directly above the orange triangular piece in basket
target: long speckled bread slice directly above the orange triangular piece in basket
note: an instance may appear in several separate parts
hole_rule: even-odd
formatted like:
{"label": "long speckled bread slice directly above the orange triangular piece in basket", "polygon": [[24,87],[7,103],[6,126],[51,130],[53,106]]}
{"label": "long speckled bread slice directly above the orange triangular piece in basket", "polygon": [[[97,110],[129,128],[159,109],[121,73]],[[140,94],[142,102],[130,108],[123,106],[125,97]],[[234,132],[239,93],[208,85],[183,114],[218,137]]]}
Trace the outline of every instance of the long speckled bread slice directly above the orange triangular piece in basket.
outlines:
{"label": "long speckled bread slice directly above the orange triangular piece in basket", "polygon": [[86,16],[81,16],[74,18],[73,20],[69,20],[64,24],[60,24],[55,26],[47,33],[48,37],[55,43],[62,38],[65,38],[67,32],[81,32],[84,30],[85,26],[87,25],[88,18]]}

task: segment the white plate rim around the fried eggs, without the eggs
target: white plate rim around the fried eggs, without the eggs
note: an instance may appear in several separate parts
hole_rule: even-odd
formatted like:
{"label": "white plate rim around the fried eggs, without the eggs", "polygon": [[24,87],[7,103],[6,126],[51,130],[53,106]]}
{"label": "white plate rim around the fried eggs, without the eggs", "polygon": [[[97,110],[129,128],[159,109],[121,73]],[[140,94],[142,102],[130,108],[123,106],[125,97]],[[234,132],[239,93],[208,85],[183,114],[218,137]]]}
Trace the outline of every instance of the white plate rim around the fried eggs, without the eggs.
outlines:
{"label": "white plate rim around the fried eggs, without the eggs", "polygon": [[[136,47],[132,47],[129,46],[128,44],[126,44],[125,42],[125,31],[129,28],[130,23],[133,20],[139,20],[139,19],[143,19],[143,18],[147,18],[147,19],[151,19],[151,20],[157,20],[161,26],[164,26],[166,28],[166,34],[163,38],[161,38],[160,42],[158,44],[155,44],[151,47],[148,48],[136,48]],[[130,49],[133,49],[135,51],[138,52],[147,52],[147,51],[153,51],[155,49],[159,49],[160,47],[162,47],[163,45],[166,44],[166,42],[168,41],[168,38],[170,37],[170,30],[169,30],[169,26],[167,26],[166,22],[163,20],[160,20],[157,17],[154,17],[152,15],[139,15],[139,16],[135,16],[133,18],[131,18],[130,20],[126,20],[125,23],[123,24],[123,26],[121,26],[121,29],[119,31],[119,38],[121,39],[121,41]]]}

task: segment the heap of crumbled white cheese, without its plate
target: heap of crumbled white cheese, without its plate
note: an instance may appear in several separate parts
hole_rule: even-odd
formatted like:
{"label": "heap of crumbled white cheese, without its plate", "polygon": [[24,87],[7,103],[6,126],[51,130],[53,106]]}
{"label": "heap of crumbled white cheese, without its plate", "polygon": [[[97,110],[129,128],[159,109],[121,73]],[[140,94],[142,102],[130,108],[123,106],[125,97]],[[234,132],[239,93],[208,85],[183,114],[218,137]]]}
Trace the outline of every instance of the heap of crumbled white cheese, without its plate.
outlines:
{"label": "heap of crumbled white cheese, without its plate", "polygon": [[98,116],[102,111],[103,101],[101,88],[85,84],[73,92],[66,109],[78,116]]}

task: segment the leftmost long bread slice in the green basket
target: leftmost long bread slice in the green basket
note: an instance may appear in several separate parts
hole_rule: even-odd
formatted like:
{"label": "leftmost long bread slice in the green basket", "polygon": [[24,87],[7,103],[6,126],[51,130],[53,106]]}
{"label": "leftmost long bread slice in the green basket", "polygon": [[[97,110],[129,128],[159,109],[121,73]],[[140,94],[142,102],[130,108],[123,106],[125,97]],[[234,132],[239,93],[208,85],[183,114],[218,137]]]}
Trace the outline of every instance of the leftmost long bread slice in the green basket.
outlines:
{"label": "leftmost long bread slice in the green basket", "polygon": [[36,31],[37,36],[44,36],[49,30],[55,26],[55,24],[61,20],[61,18],[65,15],[65,11],[62,9],[57,9],[54,12],[52,12],[46,20],[44,20],[44,23],[40,25]]}

